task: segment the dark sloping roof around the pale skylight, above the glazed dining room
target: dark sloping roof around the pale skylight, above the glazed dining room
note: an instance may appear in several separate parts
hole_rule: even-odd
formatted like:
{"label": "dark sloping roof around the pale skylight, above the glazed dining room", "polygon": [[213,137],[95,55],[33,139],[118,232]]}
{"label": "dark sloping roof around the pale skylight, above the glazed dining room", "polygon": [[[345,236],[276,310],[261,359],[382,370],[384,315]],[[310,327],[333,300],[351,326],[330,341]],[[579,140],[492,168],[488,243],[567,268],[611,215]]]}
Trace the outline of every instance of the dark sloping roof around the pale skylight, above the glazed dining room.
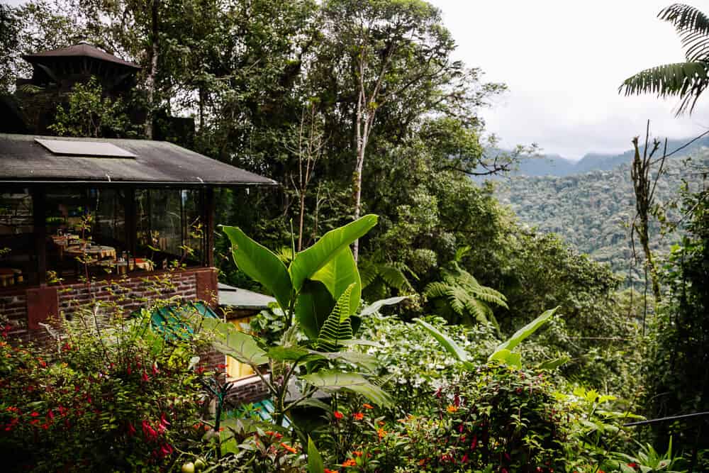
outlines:
{"label": "dark sloping roof around the pale skylight, above the glazed dining room", "polygon": [[[102,142],[135,157],[55,155],[35,138]],[[272,179],[233,167],[166,141],[0,133],[0,182],[138,183],[173,185],[277,185]]]}

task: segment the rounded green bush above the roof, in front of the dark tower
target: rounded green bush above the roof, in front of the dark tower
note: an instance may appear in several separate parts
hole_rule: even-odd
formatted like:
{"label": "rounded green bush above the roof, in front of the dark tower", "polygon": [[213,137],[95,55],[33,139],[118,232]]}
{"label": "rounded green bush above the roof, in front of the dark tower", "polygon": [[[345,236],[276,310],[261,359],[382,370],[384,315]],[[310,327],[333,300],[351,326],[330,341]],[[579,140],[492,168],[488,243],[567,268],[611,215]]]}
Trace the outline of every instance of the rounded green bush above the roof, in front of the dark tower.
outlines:
{"label": "rounded green bush above the roof, in front of the dark tower", "polygon": [[60,136],[124,138],[132,134],[123,101],[104,97],[95,77],[74,85],[68,108],[57,106],[54,123],[48,128]]}

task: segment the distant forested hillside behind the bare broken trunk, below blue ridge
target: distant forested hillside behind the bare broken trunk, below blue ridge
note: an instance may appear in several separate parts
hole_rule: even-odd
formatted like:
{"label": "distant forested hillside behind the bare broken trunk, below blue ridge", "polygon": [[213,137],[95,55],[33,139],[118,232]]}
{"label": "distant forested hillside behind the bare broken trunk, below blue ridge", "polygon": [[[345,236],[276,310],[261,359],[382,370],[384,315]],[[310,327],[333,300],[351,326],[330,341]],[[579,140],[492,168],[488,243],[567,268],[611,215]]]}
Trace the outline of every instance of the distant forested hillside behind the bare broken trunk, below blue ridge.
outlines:
{"label": "distant forested hillside behind the bare broken trunk, below blue ridge", "polygon": [[[691,155],[693,162],[706,162],[709,150],[697,149]],[[620,157],[632,159],[630,152]],[[684,164],[685,157],[669,158],[657,182],[655,199],[666,212],[669,223],[680,218],[672,206],[679,199],[683,182],[687,182],[692,191],[702,186],[702,176],[696,174],[693,166]],[[609,263],[614,272],[628,277],[628,270],[633,266],[630,222],[635,216],[629,164],[563,177],[501,179],[496,182],[496,196],[502,204],[510,205],[521,221],[542,232],[562,235],[581,252],[596,261]],[[654,250],[666,253],[678,239],[677,233],[661,235],[659,223],[655,221],[652,226]],[[642,260],[642,250],[639,246],[636,250]],[[642,265],[637,265],[637,270],[642,270]]]}

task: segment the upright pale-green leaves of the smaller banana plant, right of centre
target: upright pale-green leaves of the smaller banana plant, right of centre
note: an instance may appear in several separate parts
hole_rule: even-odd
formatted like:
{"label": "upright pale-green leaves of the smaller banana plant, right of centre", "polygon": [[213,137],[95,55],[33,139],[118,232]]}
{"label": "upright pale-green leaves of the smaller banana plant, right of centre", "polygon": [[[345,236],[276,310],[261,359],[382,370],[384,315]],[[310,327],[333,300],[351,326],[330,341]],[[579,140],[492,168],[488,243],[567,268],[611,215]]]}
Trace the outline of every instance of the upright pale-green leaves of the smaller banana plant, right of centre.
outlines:
{"label": "upright pale-green leaves of the smaller banana plant, right of centre", "polygon": [[[530,323],[527,323],[527,325],[525,325],[523,328],[517,330],[514,335],[508,338],[505,342],[498,345],[495,351],[488,357],[488,361],[491,362],[493,360],[497,360],[498,362],[501,362],[506,365],[521,367],[522,360],[520,354],[518,352],[513,352],[512,350],[514,350],[517,345],[519,345],[523,340],[525,340],[525,338],[532,335],[532,333],[535,333],[537,330],[540,329],[540,327],[542,327],[542,325],[547,323],[554,316],[554,313],[557,312],[558,308],[559,307],[555,307],[549,309],[548,311],[545,311],[545,313],[542,313],[542,315],[535,318]],[[435,328],[433,325],[430,325],[430,323],[422,321],[420,318],[415,318],[413,320],[418,323],[418,325],[423,327],[426,331],[428,331],[428,333],[430,333],[433,338],[435,338],[447,352],[449,352],[459,362],[461,362],[465,369],[467,369],[468,371],[472,371],[475,369],[475,365],[473,365],[473,363],[469,360],[468,353],[457,343],[455,343],[452,338]],[[559,366],[563,362],[564,360],[550,360],[549,362],[545,362],[545,364],[547,364],[548,366]]]}

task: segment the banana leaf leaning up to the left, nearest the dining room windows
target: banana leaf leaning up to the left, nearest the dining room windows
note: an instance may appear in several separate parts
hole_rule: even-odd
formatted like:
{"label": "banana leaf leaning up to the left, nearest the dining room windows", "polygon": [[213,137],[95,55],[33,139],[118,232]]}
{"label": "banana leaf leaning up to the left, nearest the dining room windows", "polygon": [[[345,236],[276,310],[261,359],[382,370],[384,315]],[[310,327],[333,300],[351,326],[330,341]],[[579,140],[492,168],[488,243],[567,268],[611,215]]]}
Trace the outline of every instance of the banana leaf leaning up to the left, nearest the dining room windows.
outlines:
{"label": "banana leaf leaning up to the left, nearest the dining room windows", "polygon": [[222,227],[231,241],[231,250],[236,265],[250,278],[255,279],[272,292],[284,311],[291,301],[291,277],[286,265],[267,247],[249,238],[238,227]]}

